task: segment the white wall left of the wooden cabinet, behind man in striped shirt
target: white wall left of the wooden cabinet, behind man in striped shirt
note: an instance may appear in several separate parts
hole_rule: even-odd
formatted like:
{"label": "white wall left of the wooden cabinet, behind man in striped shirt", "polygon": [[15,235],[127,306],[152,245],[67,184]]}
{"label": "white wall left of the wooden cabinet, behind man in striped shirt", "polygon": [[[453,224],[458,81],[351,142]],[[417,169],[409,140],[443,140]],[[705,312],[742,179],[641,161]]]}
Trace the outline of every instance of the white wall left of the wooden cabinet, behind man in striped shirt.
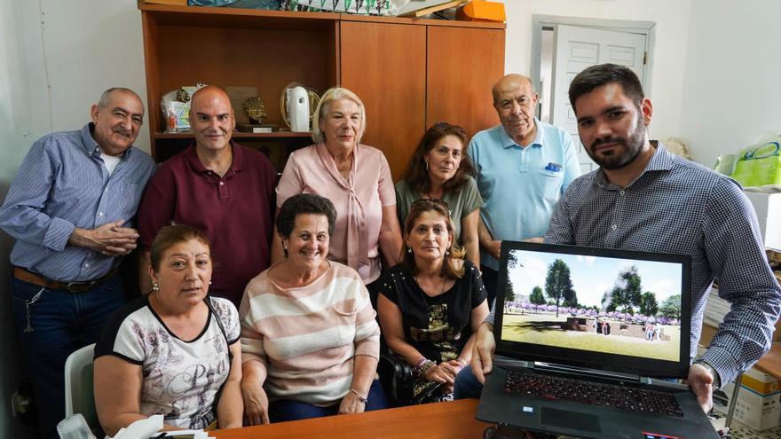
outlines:
{"label": "white wall left of the wooden cabinet, behind man in striped shirt", "polygon": [[[130,0],[0,0],[0,200],[30,145],[44,134],[80,129],[112,86],[146,100],[141,14]],[[149,150],[148,130],[138,135]],[[0,231],[0,437],[26,437],[12,418],[20,385],[8,255]]]}

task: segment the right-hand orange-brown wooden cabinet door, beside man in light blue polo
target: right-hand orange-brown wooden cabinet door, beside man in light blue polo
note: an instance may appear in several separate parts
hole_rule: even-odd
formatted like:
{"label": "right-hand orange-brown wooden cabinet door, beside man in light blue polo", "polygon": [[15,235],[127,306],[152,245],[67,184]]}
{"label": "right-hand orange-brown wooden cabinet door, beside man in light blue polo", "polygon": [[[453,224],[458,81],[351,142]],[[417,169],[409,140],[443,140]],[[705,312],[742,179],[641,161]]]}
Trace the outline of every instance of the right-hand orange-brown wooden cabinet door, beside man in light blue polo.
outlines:
{"label": "right-hand orange-brown wooden cabinet door, beside man in light blue polo", "polygon": [[504,30],[429,27],[426,127],[461,125],[469,137],[499,123],[493,84],[504,75]]}

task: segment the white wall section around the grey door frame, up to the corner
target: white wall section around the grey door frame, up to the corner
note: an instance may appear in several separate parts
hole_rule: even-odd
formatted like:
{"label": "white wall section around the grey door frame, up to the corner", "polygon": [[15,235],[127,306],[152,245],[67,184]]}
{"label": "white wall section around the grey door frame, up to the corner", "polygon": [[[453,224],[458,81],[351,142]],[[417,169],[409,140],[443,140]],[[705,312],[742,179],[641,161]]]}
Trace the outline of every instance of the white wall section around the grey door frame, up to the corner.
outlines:
{"label": "white wall section around the grey door frame, up to the corner", "polygon": [[533,14],[654,21],[656,46],[649,96],[654,106],[651,137],[679,135],[690,0],[503,0],[502,3],[507,12],[505,71],[508,73],[531,72]]}

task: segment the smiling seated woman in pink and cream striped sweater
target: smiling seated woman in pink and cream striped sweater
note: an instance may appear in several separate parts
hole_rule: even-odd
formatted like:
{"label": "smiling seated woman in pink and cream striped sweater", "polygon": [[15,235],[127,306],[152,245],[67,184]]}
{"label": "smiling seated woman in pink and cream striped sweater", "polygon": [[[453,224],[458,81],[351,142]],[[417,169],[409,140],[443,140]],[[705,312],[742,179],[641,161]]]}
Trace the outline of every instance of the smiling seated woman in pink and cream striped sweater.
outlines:
{"label": "smiling seated woman in pink and cream striped sweater", "polygon": [[[248,424],[387,407],[375,380],[380,328],[358,272],[328,261],[336,212],[298,194],[277,216],[285,260],[252,279],[241,301]],[[271,401],[271,403],[269,403]]]}

